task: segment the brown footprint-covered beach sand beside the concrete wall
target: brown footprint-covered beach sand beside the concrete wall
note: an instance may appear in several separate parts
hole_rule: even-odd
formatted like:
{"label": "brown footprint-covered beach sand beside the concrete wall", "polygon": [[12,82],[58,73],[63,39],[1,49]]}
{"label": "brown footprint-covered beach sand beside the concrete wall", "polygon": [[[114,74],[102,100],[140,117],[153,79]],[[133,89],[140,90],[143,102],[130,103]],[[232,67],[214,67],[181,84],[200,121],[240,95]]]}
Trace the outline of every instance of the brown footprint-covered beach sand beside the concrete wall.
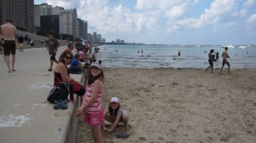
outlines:
{"label": "brown footprint-covered beach sand beside the concrete wall", "polygon": [[[255,143],[256,69],[104,69],[104,106],[119,97],[129,125],[105,143]],[[94,142],[79,119],[76,143]],[[107,124],[110,124],[106,122]],[[116,139],[114,134],[130,134]]]}

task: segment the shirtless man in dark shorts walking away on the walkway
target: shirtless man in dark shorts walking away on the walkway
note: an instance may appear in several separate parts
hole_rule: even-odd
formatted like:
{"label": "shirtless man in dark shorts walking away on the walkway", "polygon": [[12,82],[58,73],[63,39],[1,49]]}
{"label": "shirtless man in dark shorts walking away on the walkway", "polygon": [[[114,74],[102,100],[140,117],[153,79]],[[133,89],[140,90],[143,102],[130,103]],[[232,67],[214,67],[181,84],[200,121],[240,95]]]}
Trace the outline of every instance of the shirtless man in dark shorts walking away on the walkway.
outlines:
{"label": "shirtless man in dark shorts walking away on the walkway", "polygon": [[[8,72],[15,72],[15,60],[16,60],[16,27],[12,24],[12,20],[6,20],[6,23],[1,26],[1,35],[4,38],[3,51],[4,59],[8,67]],[[12,66],[10,66],[10,54],[12,54]]]}

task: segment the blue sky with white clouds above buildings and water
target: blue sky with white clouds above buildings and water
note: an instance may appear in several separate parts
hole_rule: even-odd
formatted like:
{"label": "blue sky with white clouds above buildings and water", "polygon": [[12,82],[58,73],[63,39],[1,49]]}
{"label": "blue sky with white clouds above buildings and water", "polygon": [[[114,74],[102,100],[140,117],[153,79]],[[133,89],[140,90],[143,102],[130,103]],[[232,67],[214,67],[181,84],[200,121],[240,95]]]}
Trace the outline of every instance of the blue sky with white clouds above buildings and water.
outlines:
{"label": "blue sky with white clouds above buildings and water", "polygon": [[106,42],[256,44],[256,0],[34,0],[77,9]]}

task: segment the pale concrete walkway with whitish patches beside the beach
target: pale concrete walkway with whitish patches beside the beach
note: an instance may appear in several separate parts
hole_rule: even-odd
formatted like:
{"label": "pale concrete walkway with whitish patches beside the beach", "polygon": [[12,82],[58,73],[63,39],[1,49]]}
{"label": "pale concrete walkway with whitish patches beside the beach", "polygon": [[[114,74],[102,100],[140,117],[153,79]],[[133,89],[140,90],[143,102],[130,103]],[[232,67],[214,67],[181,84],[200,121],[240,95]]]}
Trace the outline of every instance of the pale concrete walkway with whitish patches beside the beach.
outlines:
{"label": "pale concrete walkway with whitish patches beside the beach", "polygon": [[[66,46],[60,47],[57,56]],[[54,64],[54,67],[56,64]],[[45,48],[16,51],[16,72],[8,73],[0,55],[0,142],[62,143],[75,140],[78,117],[69,103],[67,110],[54,110],[47,101],[54,82],[48,72],[49,54]],[[82,75],[71,75],[80,82]]]}

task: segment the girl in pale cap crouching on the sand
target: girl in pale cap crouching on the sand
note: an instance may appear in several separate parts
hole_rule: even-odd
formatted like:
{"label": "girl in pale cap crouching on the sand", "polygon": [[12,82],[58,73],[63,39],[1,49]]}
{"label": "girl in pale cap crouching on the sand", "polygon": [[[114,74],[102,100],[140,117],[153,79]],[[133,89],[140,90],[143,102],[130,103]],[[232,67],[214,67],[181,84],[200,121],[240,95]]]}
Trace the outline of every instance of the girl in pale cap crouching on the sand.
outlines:
{"label": "girl in pale cap crouching on the sand", "polygon": [[119,99],[117,97],[111,98],[108,111],[104,113],[104,119],[110,123],[113,123],[110,128],[106,128],[105,123],[103,122],[103,130],[108,131],[108,133],[111,133],[119,122],[125,123],[125,129],[128,129],[129,114],[121,108]]}

